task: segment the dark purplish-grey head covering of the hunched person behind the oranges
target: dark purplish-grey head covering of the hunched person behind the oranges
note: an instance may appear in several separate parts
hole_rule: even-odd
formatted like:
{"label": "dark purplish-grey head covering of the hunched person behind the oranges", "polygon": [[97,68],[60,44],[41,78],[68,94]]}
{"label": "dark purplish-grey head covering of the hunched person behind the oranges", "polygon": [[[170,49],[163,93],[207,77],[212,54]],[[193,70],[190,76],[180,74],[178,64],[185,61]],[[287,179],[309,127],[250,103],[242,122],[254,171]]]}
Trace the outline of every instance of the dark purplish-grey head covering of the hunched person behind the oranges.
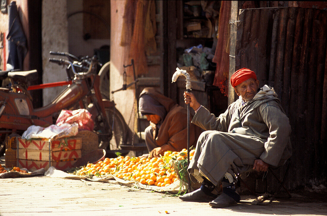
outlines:
{"label": "dark purplish-grey head covering of the hunched person behind the oranges", "polygon": [[167,111],[164,106],[148,94],[141,95],[139,100],[139,111],[142,115],[152,114],[160,116],[161,120],[159,124],[163,122],[167,115]]}

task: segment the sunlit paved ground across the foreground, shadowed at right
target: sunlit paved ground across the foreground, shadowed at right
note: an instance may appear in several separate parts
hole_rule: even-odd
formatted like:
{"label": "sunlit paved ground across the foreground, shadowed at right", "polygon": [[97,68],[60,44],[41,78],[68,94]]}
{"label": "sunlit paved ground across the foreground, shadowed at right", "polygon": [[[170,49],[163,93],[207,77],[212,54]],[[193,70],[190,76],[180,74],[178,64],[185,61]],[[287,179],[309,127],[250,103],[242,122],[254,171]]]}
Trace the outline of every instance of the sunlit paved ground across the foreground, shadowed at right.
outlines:
{"label": "sunlit paved ground across the foreground, shadowed at right", "polygon": [[[159,192],[116,184],[47,176],[0,179],[0,215],[327,215],[327,201],[293,194],[269,206],[251,205],[253,196],[228,208],[183,202]],[[167,211],[167,213],[165,212]]]}

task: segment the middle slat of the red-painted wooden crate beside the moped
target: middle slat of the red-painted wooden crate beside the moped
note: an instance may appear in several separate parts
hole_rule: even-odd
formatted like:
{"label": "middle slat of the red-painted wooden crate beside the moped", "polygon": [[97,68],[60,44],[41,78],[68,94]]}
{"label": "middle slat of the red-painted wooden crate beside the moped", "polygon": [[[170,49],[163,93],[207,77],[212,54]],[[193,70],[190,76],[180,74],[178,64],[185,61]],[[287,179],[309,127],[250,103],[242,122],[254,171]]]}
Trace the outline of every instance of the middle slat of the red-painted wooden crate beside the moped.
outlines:
{"label": "middle slat of the red-painted wooden crate beside the moped", "polygon": [[[51,158],[49,158],[51,153]],[[34,149],[18,149],[18,159],[43,160],[43,161],[66,161],[81,158],[81,150],[70,151],[43,151]]]}

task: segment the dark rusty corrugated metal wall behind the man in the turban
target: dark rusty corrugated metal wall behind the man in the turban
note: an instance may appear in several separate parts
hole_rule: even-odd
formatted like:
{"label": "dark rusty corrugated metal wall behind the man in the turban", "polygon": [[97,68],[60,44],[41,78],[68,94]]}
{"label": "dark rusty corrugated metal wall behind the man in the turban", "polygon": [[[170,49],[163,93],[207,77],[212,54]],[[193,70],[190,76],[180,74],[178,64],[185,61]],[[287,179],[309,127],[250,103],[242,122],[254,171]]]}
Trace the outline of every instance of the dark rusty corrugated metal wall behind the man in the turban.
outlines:
{"label": "dark rusty corrugated metal wall behind the man in the turban", "polygon": [[[288,188],[326,183],[327,11],[245,9],[238,20],[236,70],[248,67],[260,86],[274,87],[290,119]],[[267,182],[268,189],[274,182]]]}

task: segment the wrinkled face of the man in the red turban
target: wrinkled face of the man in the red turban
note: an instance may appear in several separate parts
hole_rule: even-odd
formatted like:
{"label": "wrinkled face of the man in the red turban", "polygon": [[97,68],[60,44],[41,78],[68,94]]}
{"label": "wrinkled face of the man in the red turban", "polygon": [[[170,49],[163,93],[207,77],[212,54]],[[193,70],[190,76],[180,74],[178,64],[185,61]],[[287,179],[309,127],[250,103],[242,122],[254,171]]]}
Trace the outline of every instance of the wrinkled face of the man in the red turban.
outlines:
{"label": "wrinkled face of the man in the red turban", "polygon": [[245,102],[248,102],[253,99],[254,95],[256,95],[258,92],[258,87],[259,80],[250,78],[235,86],[235,92],[238,96],[241,95]]}

